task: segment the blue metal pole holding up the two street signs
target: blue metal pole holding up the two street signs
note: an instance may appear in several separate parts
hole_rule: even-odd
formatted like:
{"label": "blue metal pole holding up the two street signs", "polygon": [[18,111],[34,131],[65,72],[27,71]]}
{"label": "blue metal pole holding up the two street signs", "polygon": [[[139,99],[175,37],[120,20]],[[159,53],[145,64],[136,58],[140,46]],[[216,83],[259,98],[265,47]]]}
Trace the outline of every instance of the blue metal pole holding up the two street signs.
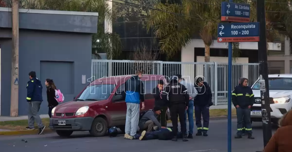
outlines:
{"label": "blue metal pole holding up the two street signs", "polygon": [[[233,2],[233,0],[229,0]],[[229,7],[229,6],[228,6]],[[231,94],[232,94],[232,42],[228,42],[228,148],[227,151],[231,152]]]}

